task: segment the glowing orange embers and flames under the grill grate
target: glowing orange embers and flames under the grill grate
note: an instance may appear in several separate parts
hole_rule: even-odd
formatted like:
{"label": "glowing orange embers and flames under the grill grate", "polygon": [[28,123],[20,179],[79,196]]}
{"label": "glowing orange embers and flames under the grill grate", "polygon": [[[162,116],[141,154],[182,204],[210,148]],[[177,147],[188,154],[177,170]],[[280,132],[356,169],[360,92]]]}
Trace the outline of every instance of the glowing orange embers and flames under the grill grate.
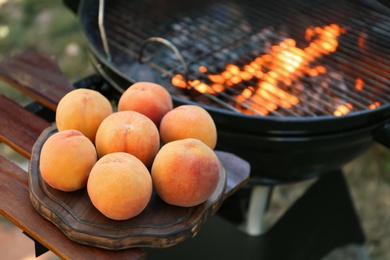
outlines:
{"label": "glowing orange embers and flames under the grill grate", "polygon": [[[243,113],[267,115],[279,108],[291,108],[301,102],[299,96],[304,93],[297,93],[296,87],[294,91],[290,87],[303,76],[316,77],[329,73],[327,68],[314,65],[314,62],[335,52],[338,48],[338,37],[345,32],[346,30],[337,24],[310,27],[306,29],[305,39],[308,44],[305,48],[298,47],[294,39],[286,38],[278,45],[273,45],[269,53],[262,54],[241,67],[227,64],[222,72],[212,74],[208,73],[206,66],[200,66],[199,72],[206,75],[207,83],[197,79],[185,82],[183,76],[178,74],[172,78],[172,84],[212,95],[231,88],[239,89],[234,99],[236,107]],[[244,88],[238,87],[244,82]],[[364,82],[361,78],[356,79],[355,88],[356,91],[363,90]],[[379,105],[380,103],[376,102],[369,107],[375,108]],[[333,115],[347,114],[352,108],[351,103],[342,101],[336,105]]]}

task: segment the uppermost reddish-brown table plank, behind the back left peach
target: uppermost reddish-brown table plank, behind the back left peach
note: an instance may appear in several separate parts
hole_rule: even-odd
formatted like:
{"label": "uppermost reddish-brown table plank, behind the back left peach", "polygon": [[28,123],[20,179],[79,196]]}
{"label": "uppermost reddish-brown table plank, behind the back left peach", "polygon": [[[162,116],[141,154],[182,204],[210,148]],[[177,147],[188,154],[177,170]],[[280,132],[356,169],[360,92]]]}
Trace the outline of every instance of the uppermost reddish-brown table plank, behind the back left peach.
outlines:
{"label": "uppermost reddish-brown table plank, behind the back left peach", "polygon": [[35,50],[2,61],[0,79],[54,111],[60,99],[73,89],[56,61]]}

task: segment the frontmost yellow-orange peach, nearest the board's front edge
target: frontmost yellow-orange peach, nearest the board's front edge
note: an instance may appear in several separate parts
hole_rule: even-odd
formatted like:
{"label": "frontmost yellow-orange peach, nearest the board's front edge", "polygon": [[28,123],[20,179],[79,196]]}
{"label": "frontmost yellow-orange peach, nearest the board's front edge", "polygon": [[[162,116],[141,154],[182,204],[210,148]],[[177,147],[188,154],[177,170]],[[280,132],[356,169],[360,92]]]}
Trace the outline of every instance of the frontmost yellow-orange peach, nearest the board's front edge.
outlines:
{"label": "frontmost yellow-orange peach, nearest the board's front edge", "polygon": [[92,168],[88,196],[103,215],[126,220],[139,215],[152,196],[152,179],[135,156],[118,152],[100,158]]}

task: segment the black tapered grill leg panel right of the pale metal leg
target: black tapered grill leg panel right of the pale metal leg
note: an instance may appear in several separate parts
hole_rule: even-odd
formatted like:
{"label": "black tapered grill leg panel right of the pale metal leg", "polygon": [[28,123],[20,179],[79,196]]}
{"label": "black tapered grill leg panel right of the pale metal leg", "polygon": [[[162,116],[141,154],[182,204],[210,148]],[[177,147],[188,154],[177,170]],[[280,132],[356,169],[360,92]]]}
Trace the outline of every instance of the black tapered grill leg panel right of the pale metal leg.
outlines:
{"label": "black tapered grill leg panel right of the pale metal leg", "polygon": [[[272,226],[266,259],[322,259],[365,235],[341,170],[324,174]],[[283,248],[283,250],[281,250]]]}

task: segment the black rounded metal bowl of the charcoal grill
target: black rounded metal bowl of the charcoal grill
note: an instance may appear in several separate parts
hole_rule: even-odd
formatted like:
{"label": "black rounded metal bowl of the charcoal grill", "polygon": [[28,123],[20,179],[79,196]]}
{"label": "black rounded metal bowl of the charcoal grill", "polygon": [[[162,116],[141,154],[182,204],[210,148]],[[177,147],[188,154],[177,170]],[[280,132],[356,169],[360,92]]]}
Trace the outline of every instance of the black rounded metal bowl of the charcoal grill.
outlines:
{"label": "black rounded metal bowl of the charcoal grill", "polygon": [[[310,7],[303,6],[300,10]],[[115,57],[124,59],[118,49],[113,48],[111,55],[114,58],[108,59],[98,31],[96,2],[93,6],[90,1],[84,1],[79,12],[84,14],[81,23],[90,43],[92,63],[99,74],[119,92],[136,81],[145,80],[138,73],[129,73],[118,66]],[[139,57],[136,56],[129,57],[130,62],[134,60],[134,64],[137,64]],[[164,77],[169,80],[169,71],[159,71],[156,78],[155,67],[149,65],[137,64],[136,71],[142,71],[143,75],[150,77],[147,78],[150,81],[164,80],[161,79]],[[385,82],[384,95],[388,97],[389,82]],[[197,104],[206,108],[217,125],[217,149],[235,153],[249,161],[251,180],[260,183],[298,181],[337,169],[369,149],[378,139],[376,132],[381,132],[390,118],[390,104],[340,117],[279,117],[246,115],[185,100],[176,95],[172,98],[175,106]]]}

